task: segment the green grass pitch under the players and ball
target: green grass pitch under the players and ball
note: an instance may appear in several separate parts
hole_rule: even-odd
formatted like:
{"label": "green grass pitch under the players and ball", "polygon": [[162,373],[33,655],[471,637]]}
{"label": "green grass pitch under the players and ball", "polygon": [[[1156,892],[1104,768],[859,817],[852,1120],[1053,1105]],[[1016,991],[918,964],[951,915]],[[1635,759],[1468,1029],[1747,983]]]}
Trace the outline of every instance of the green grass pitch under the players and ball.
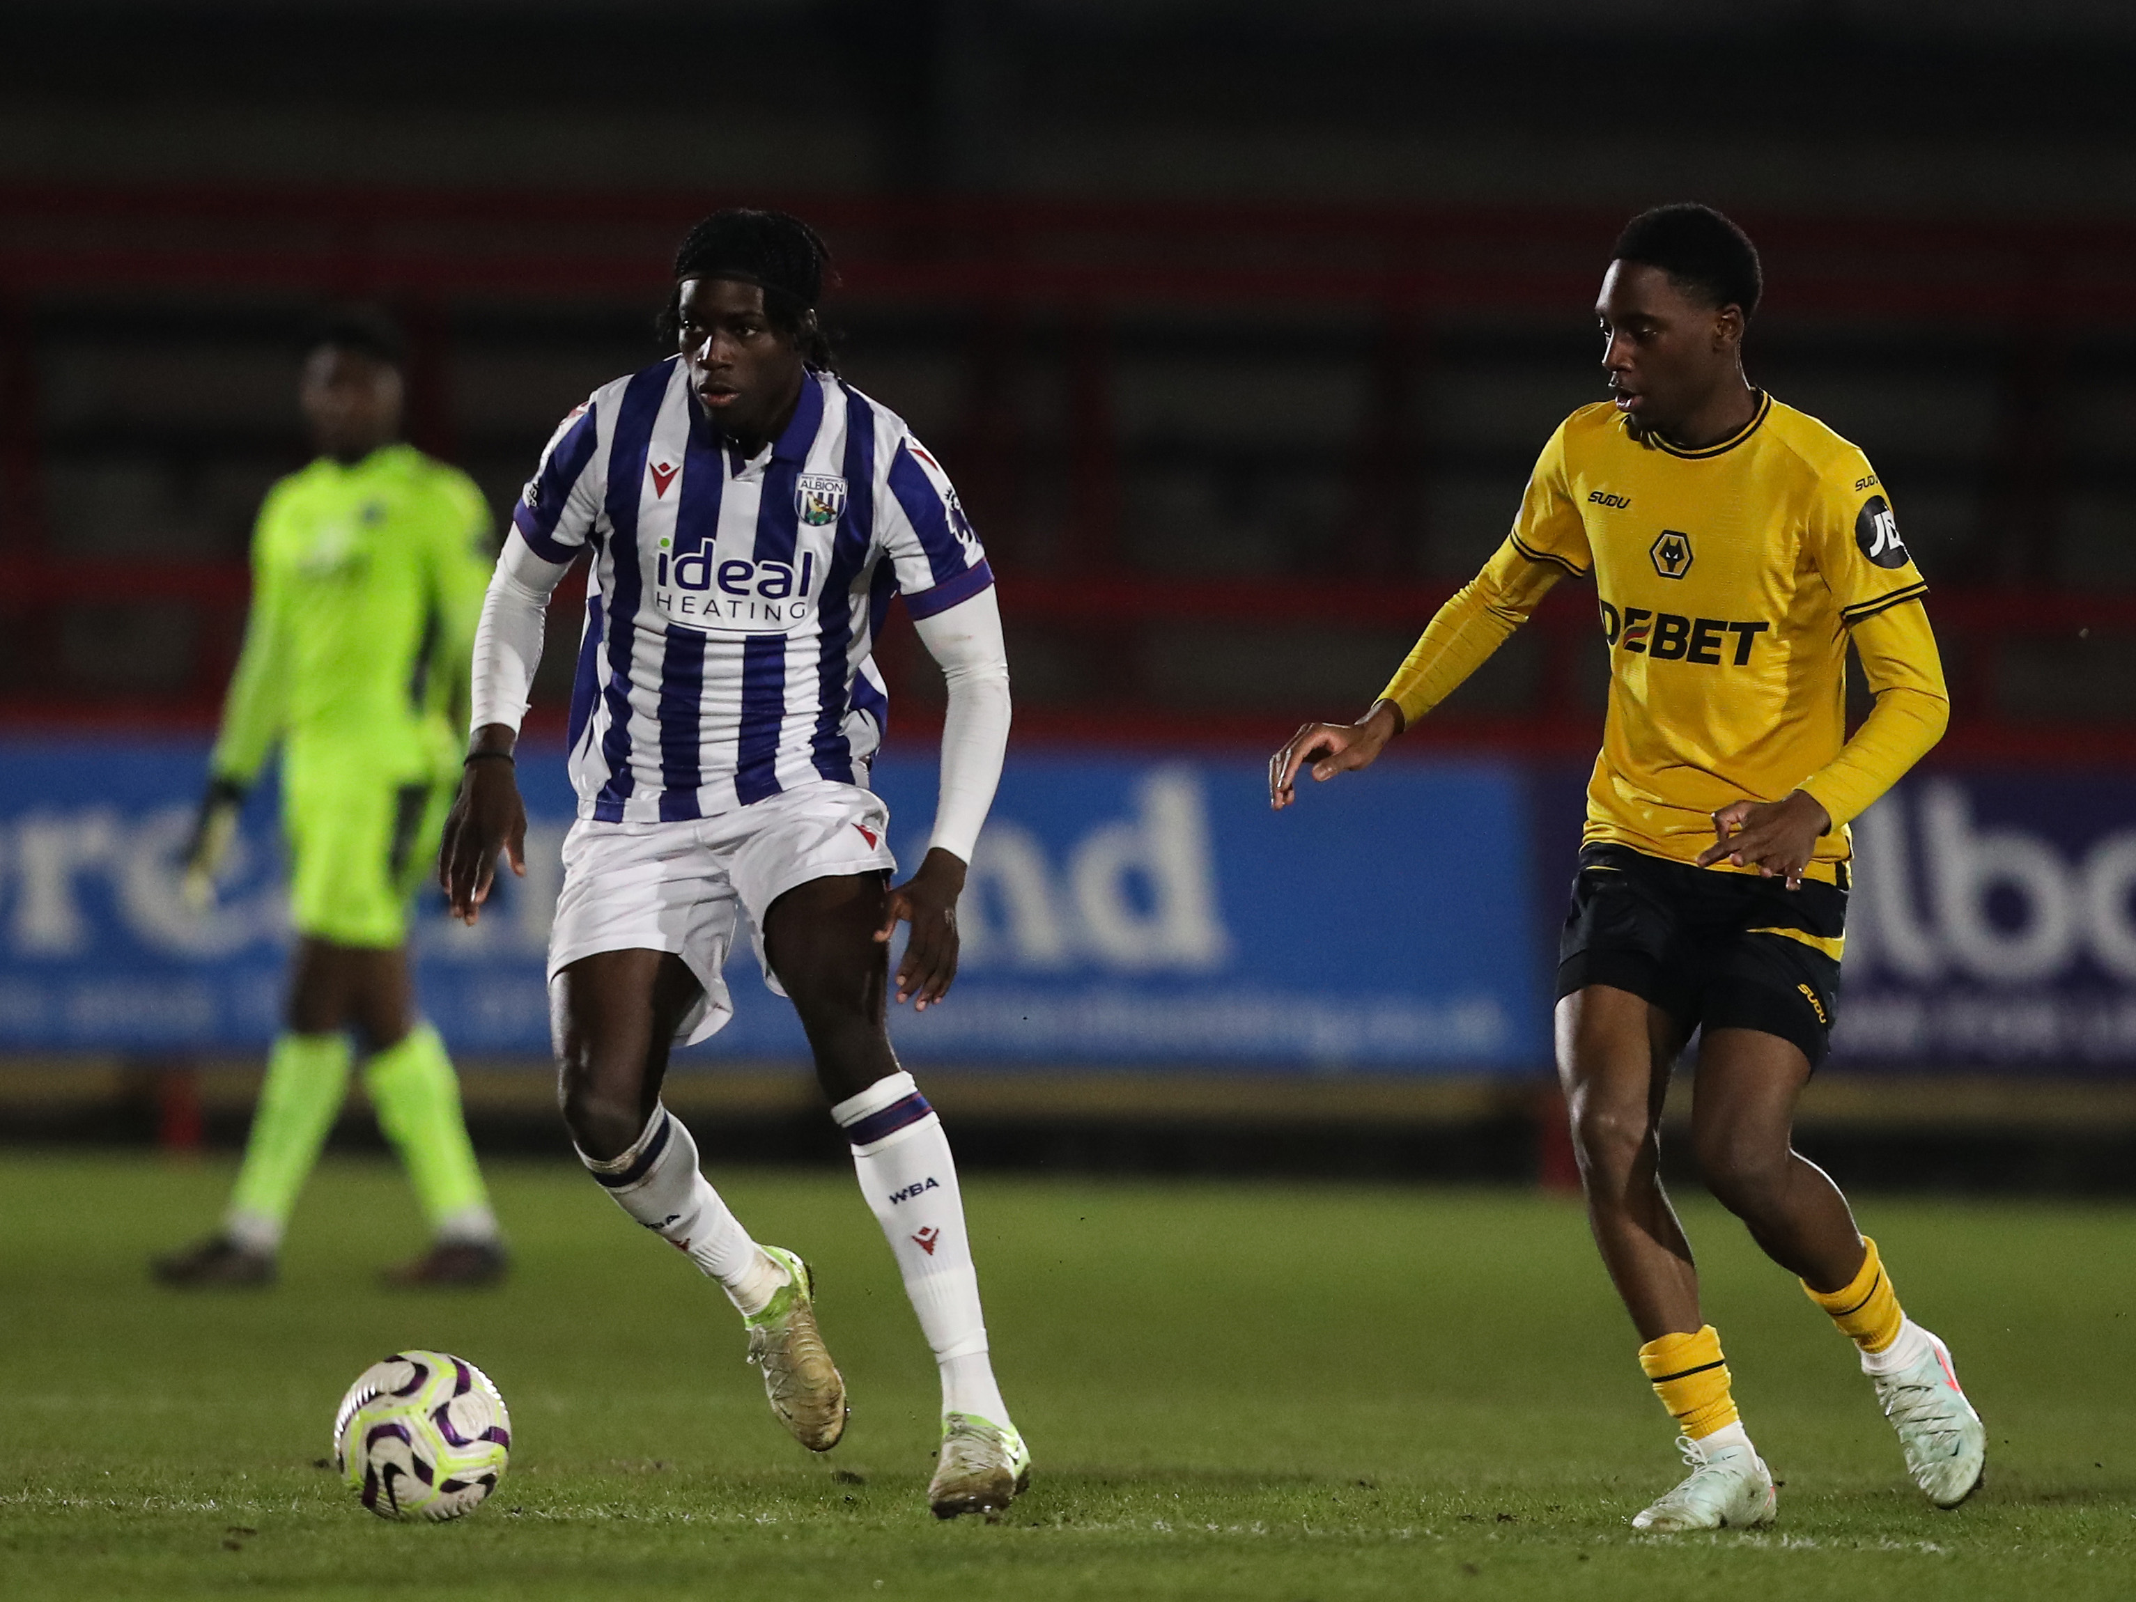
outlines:
{"label": "green grass pitch under the players and ball", "polygon": [[[923,1506],[933,1373],[848,1177],[726,1192],[822,1277],[846,1444],[771,1423],[741,1331],[564,1164],[493,1166],[519,1273],[391,1294],[382,1164],[329,1164],[282,1288],[179,1297],[152,1247],[220,1164],[0,1158],[9,1598],[2076,1598],[2136,1591],[2127,1209],[1871,1203],[1907,1303],[1991,1425],[1991,1485],[1905,1482],[1846,1344],[1711,1207],[1709,1312],[1786,1480],[1764,1534],[1638,1538],[1668,1427],[1576,1207],[1514,1194],[983,1179],[1002,1380],[1038,1455],[1000,1523]],[[318,1463],[397,1346],[478,1361],[513,1467],[472,1519],[387,1525]]]}

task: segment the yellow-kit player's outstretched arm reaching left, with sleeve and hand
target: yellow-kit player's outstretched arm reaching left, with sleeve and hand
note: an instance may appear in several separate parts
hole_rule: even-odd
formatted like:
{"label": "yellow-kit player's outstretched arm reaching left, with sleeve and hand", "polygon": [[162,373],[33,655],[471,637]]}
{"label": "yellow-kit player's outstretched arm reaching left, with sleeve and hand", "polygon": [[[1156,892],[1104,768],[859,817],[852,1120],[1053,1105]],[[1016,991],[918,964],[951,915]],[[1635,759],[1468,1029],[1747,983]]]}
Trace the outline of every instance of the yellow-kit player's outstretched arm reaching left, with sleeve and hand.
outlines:
{"label": "yellow-kit player's outstretched arm reaching left, with sleeve and hand", "polygon": [[1371,767],[1386,743],[1427,716],[1529,619],[1568,572],[1593,566],[1587,528],[1566,476],[1566,429],[1536,461],[1512,534],[1470,583],[1440,607],[1380,698],[1354,724],[1305,724],[1269,758],[1269,805],[1297,801],[1299,771],[1316,782]]}

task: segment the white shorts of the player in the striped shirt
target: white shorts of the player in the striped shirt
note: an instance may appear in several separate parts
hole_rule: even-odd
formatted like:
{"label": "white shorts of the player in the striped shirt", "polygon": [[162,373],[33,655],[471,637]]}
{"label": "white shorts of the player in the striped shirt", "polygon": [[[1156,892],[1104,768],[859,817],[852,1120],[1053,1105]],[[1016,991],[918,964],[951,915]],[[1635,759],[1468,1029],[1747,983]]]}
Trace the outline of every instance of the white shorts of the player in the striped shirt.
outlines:
{"label": "white shorts of the player in the striped shirt", "polygon": [[765,912],[795,884],[842,874],[897,871],[891,810],[857,784],[803,784],[718,818],[596,822],[564,835],[564,889],[549,929],[549,978],[596,951],[673,951],[705,1000],[677,1040],[718,1034],[735,1004],[722,970],[735,946],[737,910],[748,916],[756,963],[765,959]]}

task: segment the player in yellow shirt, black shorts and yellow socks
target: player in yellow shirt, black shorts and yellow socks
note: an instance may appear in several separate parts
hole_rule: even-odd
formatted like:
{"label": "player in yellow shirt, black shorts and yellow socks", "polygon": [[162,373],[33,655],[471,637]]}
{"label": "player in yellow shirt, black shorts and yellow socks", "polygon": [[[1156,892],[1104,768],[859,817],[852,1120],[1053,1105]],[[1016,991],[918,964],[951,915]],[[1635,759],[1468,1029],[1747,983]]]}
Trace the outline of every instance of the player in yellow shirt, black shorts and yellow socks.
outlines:
{"label": "player in yellow shirt, black shorts and yellow socks", "polygon": [[[1593,575],[1611,692],[1559,942],[1557,1070],[1596,1245],[1692,1467],[1632,1521],[1653,1532],[1775,1510],[1658,1177],[1662,1096],[1694,1030],[1707,1185],[1854,1339],[1935,1506],[1980,1485],[1986,1448],[1948,1348],[1792,1149],[1839,1002],[1848,822],[1935,745],[1950,703],[1927,585],[1867,457],[1745,378],[1760,288],[1722,214],[1634,218],[1596,301],[1611,399],[1557,427],[1512,534],[1371,711],[1307,724],[1269,765],[1277,810],[1301,769],[1369,767],[1553,583]],[[1875,694],[1852,739],[1850,641]]]}

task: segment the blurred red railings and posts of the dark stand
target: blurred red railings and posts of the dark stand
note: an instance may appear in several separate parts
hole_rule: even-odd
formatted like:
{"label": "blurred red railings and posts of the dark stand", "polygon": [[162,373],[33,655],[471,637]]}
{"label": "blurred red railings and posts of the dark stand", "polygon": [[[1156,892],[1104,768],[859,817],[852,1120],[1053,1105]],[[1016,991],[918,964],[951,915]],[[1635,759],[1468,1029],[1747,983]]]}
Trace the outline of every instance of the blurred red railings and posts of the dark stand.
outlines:
{"label": "blurred red railings and posts of the dark stand", "polygon": [[[115,293],[290,293],[384,297],[412,310],[419,361],[436,310],[468,297],[643,305],[664,286],[673,237],[707,205],[696,192],[451,192],[0,186],[0,628],[36,634],[66,607],[177,604],[192,622],[182,681],[158,692],[90,692],[21,679],[0,690],[0,722],[203,724],[235,654],[246,575],[239,566],[75,562],[45,540],[41,434],[30,308],[103,303]],[[1564,316],[1593,288],[1593,256],[1615,216],[1579,211],[1271,207],[1070,201],[904,201],[786,197],[835,239],[848,305],[951,308],[1066,318],[1081,337],[1070,408],[1077,545],[1106,551],[1117,534],[1119,464],[1106,406],[1109,342],[1121,316],[1179,308],[1254,314],[1307,305],[1373,312],[1386,340],[1429,318]],[[1875,250],[1843,216],[1752,216],[1771,265],[1769,316],[1796,323],[1937,325],[2053,335],[2078,320],[2136,323],[2136,226],[1944,224],[1878,218]],[[985,352],[978,355],[985,359]],[[419,384],[421,389],[421,384]],[[421,399],[419,399],[421,410]],[[421,421],[421,419],[419,419]],[[2019,427],[2016,431],[2023,431]],[[2029,438],[2029,436],[2027,436]],[[1382,442],[1384,444],[1384,442]],[[1006,444],[993,440],[1006,453]],[[1006,472],[974,427],[972,483]],[[1393,449],[1393,446],[1386,446]],[[2016,440],[2012,470],[2042,470]],[[1384,449],[1378,451],[1384,455]],[[1358,459],[1378,459],[1371,442]],[[963,466],[963,459],[959,466]],[[1004,457],[1006,459],[1006,457]],[[2006,464],[2008,466],[2008,464]],[[1369,472],[1369,464],[1365,468]],[[1019,570],[1004,543],[1012,628],[1143,630],[1179,622],[1239,626],[1420,628],[1448,594],[1414,581],[1312,577],[1062,577]],[[1976,760],[2130,760],[2136,720],[2057,722],[1995,711],[2016,645],[2136,634],[2136,598],[2016,587],[1931,598],[1957,692],[1946,750]],[[120,622],[117,626],[124,626]],[[1538,711],[1448,716],[1433,739],[1585,752],[1598,713],[1579,696],[1593,639],[1589,600],[1568,585],[1534,630],[1544,639]],[[893,677],[914,669],[910,641],[884,641]],[[906,698],[912,705],[912,698]],[[1132,684],[1081,705],[1025,703],[1019,726],[1109,741],[1267,741],[1335,707],[1185,713]]]}

